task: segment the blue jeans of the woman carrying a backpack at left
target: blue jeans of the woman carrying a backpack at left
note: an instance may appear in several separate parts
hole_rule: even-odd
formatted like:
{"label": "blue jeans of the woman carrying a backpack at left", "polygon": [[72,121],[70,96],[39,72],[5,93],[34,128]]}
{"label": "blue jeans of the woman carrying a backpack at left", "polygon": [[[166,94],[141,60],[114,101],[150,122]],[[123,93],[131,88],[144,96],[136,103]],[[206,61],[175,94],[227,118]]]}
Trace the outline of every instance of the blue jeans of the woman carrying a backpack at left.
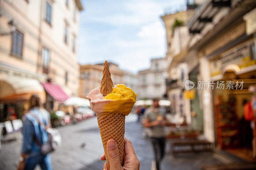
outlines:
{"label": "blue jeans of the woman carrying a backpack at left", "polygon": [[36,165],[39,165],[42,170],[52,170],[52,161],[51,156],[49,154],[45,155],[38,155],[35,157],[31,157],[26,159],[25,161],[25,170],[33,170],[35,169]]}

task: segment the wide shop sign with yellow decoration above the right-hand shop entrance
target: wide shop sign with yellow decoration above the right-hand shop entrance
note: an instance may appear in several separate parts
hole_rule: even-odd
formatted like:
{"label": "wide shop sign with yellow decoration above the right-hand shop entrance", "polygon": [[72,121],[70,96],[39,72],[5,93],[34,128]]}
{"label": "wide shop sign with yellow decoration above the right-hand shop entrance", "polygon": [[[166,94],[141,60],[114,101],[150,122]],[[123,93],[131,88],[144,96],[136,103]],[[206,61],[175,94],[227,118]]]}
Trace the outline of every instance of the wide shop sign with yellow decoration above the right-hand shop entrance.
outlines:
{"label": "wide shop sign with yellow decoration above the right-hand shop entrance", "polygon": [[217,59],[212,60],[210,62],[211,77],[220,75],[221,70],[230,64],[234,65],[233,70],[236,72],[239,72],[240,69],[256,64],[255,58],[253,58],[251,54],[252,45],[254,45],[253,41],[248,41],[220,54]]}

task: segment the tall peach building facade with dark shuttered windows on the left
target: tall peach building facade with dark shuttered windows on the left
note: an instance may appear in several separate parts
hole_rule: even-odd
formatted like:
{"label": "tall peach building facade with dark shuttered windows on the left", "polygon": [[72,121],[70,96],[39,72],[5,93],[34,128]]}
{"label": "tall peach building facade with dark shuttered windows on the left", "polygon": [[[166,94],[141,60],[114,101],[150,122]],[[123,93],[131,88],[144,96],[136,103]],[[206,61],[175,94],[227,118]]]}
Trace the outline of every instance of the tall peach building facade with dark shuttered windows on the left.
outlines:
{"label": "tall peach building facade with dark shuttered windows on the left", "polygon": [[77,95],[81,2],[3,0],[0,5],[0,76],[49,81],[68,96]]}

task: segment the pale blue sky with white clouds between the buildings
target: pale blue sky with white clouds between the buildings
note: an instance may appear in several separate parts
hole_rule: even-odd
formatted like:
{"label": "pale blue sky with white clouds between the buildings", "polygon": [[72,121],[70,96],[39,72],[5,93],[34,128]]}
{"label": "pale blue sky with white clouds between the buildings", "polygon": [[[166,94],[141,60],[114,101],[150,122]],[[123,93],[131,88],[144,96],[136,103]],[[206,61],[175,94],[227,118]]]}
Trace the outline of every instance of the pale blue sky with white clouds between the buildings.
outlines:
{"label": "pale blue sky with white clouds between the buildings", "polygon": [[78,62],[118,64],[137,73],[150,59],[165,57],[166,34],[160,16],[179,11],[186,0],[81,0]]}

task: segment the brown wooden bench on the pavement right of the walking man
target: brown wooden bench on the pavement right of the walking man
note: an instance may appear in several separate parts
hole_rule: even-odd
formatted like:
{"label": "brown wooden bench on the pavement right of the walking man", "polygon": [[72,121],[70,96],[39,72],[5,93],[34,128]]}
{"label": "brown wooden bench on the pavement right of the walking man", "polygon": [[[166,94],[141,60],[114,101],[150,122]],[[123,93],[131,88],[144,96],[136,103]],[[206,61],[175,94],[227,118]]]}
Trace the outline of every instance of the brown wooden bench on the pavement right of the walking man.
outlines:
{"label": "brown wooden bench on the pavement right of the walking man", "polygon": [[[213,144],[207,140],[197,140],[197,139],[179,139],[171,140],[171,152],[174,155],[175,153],[182,152],[213,152]],[[190,146],[190,149],[186,150],[175,150],[177,146]],[[195,146],[203,146],[201,149],[196,149]]]}

